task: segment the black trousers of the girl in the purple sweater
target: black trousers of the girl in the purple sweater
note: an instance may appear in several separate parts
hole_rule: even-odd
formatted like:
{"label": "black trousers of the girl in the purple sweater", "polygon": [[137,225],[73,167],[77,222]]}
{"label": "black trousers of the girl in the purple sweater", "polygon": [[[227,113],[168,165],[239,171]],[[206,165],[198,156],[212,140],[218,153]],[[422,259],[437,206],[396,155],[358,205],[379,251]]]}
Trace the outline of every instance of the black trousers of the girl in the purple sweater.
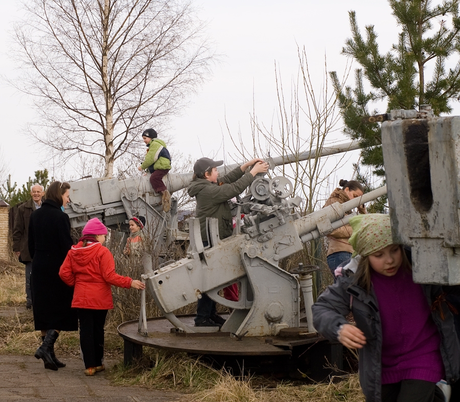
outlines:
{"label": "black trousers of the girl in the purple sweater", "polygon": [[382,402],[444,402],[444,396],[435,383],[403,380],[382,385]]}

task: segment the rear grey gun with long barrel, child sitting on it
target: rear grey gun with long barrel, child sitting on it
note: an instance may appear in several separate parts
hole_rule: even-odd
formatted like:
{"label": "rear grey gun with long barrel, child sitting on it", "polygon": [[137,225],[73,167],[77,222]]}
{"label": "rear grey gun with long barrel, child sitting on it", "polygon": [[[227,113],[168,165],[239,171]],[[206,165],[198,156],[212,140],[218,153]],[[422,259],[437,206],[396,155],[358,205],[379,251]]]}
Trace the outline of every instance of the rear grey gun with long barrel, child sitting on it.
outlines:
{"label": "rear grey gun with long barrel, child sitting on it", "polygon": [[[358,149],[357,141],[324,147],[321,152],[312,150],[298,154],[269,158],[273,169],[287,163],[294,163],[318,156],[332,155]],[[237,164],[220,167],[219,173],[225,174],[236,168]],[[128,179],[91,178],[72,183],[71,202],[65,209],[74,228],[83,227],[91,218],[99,218],[106,226],[113,229],[127,230],[128,220],[134,215],[146,218],[145,231],[152,240],[152,249],[159,251],[167,248],[174,240],[184,240],[188,234],[178,230],[177,199],[174,193],[189,185],[193,173],[169,173],[164,181],[173,195],[171,210],[163,212],[161,196],[153,191],[148,176]]]}

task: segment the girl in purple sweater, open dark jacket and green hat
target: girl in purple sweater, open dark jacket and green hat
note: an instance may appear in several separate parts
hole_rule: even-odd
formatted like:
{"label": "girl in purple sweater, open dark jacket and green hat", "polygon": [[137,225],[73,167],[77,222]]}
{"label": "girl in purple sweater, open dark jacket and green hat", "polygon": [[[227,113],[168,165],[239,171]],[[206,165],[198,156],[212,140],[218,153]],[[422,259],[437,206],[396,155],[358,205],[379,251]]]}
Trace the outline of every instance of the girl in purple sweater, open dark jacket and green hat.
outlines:
{"label": "girl in purple sweater, open dark jacket and green hat", "polygon": [[[318,297],[314,326],[359,349],[367,402],[448,400],[444,380],[458,379],[460,349],[441,286],[413,282],[403,247],[393,244],[388,215],[359,215],[350,225],[359,264],[356,272],[343,269]],[[356,325],[345,318],[350,312]]]}

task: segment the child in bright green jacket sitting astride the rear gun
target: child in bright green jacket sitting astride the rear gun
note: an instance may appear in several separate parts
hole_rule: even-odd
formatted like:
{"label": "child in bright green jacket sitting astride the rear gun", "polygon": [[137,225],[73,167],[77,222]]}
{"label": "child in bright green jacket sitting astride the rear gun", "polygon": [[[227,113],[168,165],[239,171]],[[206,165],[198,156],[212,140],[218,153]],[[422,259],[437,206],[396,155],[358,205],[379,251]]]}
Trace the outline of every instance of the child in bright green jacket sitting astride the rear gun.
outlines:
{"label": "child in bright green jacket sitting astride the rear gun", "polygon": [[163,210],[169,212],[171,208],[171,194],[163,182],[163,177],[171,169],[171,156],[166,149],[165,141],[157,138],[153,128],[148,128],[142,133],[142,139],[148,147],[144,162],[138,167],[139,170],[148,169],[151,173],[150,184],[158,194],[162,195]]}

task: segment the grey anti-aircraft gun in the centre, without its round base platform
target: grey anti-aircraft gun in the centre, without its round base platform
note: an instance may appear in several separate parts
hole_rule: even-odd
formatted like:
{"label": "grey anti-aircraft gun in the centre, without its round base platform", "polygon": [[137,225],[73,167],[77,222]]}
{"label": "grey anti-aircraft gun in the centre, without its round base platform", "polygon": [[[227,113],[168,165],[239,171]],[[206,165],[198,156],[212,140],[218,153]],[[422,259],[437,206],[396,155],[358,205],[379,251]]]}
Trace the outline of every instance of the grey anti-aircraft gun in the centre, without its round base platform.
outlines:
{"label": "grey anti-aircraft gun in the centre, without its round base platform", "polygon": [[[206,220],[209,246],[203,246],[200,223],[190,219],[190,247],[186,258],[153,270],[145,256],[144,268],[149,290],[158,308],[181,332],[195,333],[173,312],[208,294],[213,300],[234,309],[221,332],[235,336],[275,336],[283,328],[300,326],[300,281],[279,267],[280,261],[301,251],[304,243],[317,239],[348,223],[347,211],[386,194],[380,187],[360,198],[320,209],[305,217],[293,212],[301,198],[290,196],[292,185],[285,177],[256,179],[250,187],[249,207],[236,233],[219,238],[217,219]],[[237,215],[238,216],[238,215]],[[302,273],[302,272],[300,272]],[[226,300],[219,291],[239,281],[239,301]],[[302,282],[302,281],[301,281]],[[304,285],[304,284],[303,284]],[[311,289],[310,283],[303,286]],[[305,292],[308,332],[311,320],[311,292]],[[309,305],[308,305],[309,304]],[[214,327],[216,329],[216,327]],[[208,328],[208,330],[213,330]]]}

